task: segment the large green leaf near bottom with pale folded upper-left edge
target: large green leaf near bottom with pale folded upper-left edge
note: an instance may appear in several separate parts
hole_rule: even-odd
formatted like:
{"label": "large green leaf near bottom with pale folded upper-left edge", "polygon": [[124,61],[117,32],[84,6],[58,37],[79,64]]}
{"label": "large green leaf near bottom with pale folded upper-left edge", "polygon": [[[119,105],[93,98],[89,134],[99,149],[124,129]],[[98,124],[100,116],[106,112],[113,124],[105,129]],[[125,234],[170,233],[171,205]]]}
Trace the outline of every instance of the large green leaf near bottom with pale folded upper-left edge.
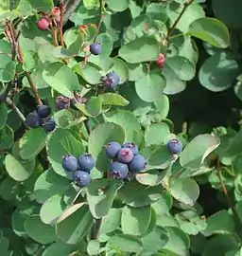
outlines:
{"label": "large green leaf near bottom with pale folded upper-left edge", "polygon": [[66,244],[75,245],[89,232],[94,218],[82,203],[67,209],[63,215],[56,225],[57,234]]}

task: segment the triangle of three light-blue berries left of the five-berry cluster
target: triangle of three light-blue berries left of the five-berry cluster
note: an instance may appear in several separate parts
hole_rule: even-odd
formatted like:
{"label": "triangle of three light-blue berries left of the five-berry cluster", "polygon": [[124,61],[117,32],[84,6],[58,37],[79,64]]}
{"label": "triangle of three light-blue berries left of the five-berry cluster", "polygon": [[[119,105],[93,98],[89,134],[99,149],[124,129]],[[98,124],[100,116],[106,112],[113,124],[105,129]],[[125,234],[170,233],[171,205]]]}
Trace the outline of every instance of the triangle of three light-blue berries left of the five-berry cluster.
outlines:
{"label": "triangle of three light-blue berries left of the five-berry cluster", "polygon": [[95,159],[91,154],[78,157],[65,155],[62,158],[62,167],[67,173],[72,173],[72,180],[82,188],[91,182],[90,172],[95,167]]}

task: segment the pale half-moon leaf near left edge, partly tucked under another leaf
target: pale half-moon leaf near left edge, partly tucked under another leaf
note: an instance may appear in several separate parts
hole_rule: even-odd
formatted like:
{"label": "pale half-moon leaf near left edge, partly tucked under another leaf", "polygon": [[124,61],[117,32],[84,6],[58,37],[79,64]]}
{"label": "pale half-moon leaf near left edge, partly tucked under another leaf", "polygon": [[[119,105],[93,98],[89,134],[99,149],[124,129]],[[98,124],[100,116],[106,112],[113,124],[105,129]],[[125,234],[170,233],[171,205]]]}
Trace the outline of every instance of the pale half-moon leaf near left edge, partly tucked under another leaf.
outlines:
{"label": "pale half-moon leaf near left edge, partly tucked under another leaf", "polygon": [[5,165],[9,176],[17,181],[26,180],[33,172],[33,168],[26,168],[12,155],[6,156]]}

